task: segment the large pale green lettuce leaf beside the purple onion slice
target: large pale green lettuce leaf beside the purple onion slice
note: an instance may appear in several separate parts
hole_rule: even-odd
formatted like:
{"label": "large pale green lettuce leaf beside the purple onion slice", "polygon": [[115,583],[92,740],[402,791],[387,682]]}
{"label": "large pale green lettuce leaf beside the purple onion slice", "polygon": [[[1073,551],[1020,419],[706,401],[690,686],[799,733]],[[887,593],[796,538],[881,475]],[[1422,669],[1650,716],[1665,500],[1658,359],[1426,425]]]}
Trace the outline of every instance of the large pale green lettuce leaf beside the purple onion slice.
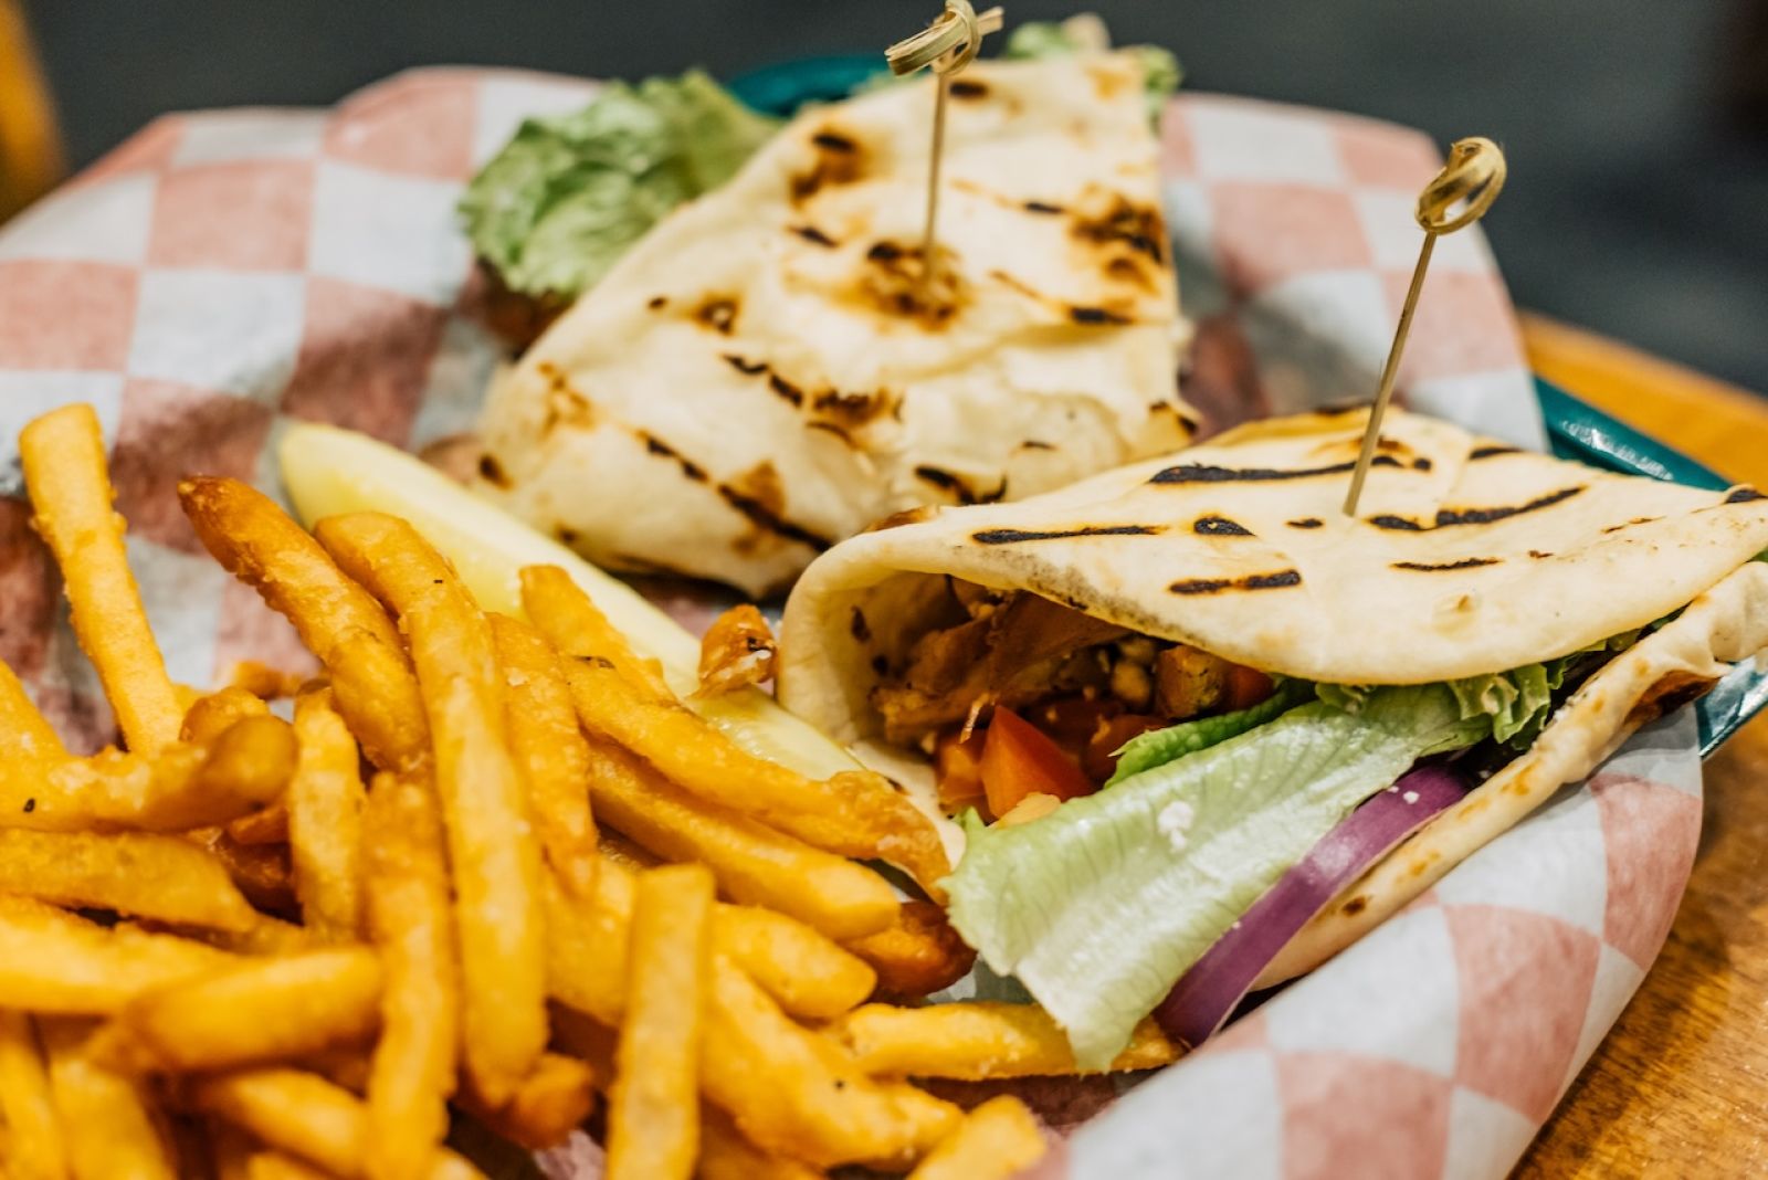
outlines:
{"label": "large pale green lettuce leaf beside the purple onion slice", "polygon": [[1103,1069],[1179,975],[1414,761],[1485,738],[1444,685],[1299,705],[1018,827],[967,820],[951,922]]}

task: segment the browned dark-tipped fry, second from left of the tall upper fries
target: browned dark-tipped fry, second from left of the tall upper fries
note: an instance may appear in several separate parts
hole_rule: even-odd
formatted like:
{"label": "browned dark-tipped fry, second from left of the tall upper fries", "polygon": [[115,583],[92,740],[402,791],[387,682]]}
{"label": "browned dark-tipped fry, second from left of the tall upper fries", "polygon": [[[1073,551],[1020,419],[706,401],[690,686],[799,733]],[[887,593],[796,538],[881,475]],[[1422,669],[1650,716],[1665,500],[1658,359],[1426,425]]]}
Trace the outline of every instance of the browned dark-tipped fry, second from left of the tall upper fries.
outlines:
{"label": "browned dark-tipped fry, second from left of the tall upper fries", "polygon": [[237,479],[196,477],[179,502],[209,553],[295,625],[332,677],[338,710],[382,768],[428,761],[417,680],[392,620],[269,496]]}

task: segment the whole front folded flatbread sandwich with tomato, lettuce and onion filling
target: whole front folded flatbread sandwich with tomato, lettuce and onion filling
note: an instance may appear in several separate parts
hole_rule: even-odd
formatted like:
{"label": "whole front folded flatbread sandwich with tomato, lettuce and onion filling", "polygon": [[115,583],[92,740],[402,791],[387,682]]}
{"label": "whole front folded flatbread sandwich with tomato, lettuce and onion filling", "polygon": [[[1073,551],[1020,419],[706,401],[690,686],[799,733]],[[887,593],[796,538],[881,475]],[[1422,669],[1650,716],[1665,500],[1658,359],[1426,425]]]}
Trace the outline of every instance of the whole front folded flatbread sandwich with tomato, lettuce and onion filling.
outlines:
{"label": "whole front folded flatbread sandwich with tomato, lettuce and onion filling", "polygon": [[951,920],[1101,1067],[1197,1044],[1768,647],[1768,498],[1395,412],[1243,426],[820,556],[780,694],[932,756]]}

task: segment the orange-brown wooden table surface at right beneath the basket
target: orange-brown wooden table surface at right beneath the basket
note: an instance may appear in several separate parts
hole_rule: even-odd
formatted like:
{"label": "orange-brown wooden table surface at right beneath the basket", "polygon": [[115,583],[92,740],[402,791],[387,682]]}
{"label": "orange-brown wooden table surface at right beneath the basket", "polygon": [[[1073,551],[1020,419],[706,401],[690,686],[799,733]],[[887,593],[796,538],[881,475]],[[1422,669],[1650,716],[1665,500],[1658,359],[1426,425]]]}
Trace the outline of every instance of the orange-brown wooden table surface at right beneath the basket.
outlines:
{"label": "orange-brown wooden table surface at right beneath the basket", "polygon": [[[1547,320],[1524,337],[1542,376],[1768,488],[1768,401]],[[1768,714],[1706,765],[1701,851],[1664,954],[1515,1175],[1768,1175]]]}

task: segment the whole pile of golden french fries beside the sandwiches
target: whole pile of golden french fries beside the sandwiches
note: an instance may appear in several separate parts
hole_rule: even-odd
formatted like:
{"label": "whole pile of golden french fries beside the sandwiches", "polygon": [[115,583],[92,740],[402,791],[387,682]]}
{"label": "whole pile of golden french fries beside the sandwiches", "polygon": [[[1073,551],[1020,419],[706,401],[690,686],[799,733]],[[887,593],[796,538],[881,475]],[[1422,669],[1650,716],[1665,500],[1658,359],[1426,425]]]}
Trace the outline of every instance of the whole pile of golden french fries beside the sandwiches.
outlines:
{"label": "whole pile of golden french fries beside the sandwiches", "polygon": [[[1036,1007],[916,1007],[971,956],[866,864],[948,873],[893,784],[744,753],[559,569],[488,615],[405,521],[308,533],[230,479],[184,511],[322,671],[173,684],[92,410],[19,454],[122,749],[71,754],[0,666],[7,1180],[477,1176],[465,1120],[587,1127],[613,1180],[1043,1155],[1017,1099],[909,1081],[1073,1060]],[[705,691],[766,675],[764,632],[714,629]],[[1117,1067],[1174,1056],[1149,1026]]]}

